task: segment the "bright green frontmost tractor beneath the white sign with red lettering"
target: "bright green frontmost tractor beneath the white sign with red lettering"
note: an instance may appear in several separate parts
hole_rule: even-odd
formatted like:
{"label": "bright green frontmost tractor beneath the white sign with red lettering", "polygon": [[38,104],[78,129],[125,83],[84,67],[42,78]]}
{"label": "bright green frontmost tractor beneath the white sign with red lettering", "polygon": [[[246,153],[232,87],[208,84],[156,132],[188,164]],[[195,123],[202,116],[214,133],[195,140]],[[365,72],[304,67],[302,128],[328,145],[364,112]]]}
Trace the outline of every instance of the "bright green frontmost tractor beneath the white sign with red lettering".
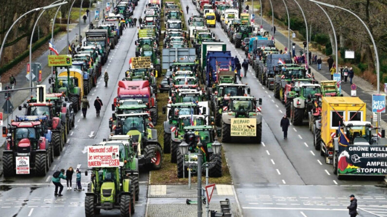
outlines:
{"label": "bright green frontmost tractor beneath the white sign with red lettering", "polygon": [[98,215],[101,209],[120,209],[121,217],[130,217],[134,213],[134,185],[126,175],[119,167],[92,168],[85,197],[86,217]]}

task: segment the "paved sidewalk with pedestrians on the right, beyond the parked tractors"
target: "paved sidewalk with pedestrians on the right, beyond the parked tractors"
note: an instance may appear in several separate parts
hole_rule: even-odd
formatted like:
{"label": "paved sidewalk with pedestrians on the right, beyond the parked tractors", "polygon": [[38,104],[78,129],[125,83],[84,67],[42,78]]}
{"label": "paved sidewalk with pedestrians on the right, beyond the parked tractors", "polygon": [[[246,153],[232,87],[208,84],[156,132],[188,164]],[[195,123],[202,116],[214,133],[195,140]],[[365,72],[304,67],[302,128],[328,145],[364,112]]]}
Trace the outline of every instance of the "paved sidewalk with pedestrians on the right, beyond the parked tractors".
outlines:
{"label": "paved sidewalk with pedestrians on the right, beyond the parked tractors", "polygon": [[[259,24],[260,23],[260,17],[258,15],[258,13],[255,13],[256,14],[256,23]],[[272,24],[271,22],[268,22],[267,20],[265,20],[265,18],[262,19],[262,25],[263,25],[263,29],[265,29],[266,31],[269,31],[269,33],[271,33],[271,28],[272,28]],[[282,32],[286,32],[286,34],[283,34]],[[276,47],[280,50],[284,50],[285,47],[287,47],[288,45],[288,37],[287,37],[287,30],[281,28],[281,27],[277,27],[276,26],[276,34],[275,34],[275,40],[276,40]],[[298,50],[302,49],[303,50],[303,45],[302,45],[302,42],[299,41],[299,40],[293,40],[293,43],[295,43],[295,51],[296,53],[298,53]],[[302,46],[302,48],[301,48]],[[312,54],[317,54],[318,56],[321,56],[321,59],[326,59],[327,56],[322,54],[321,52],[312,52]],[[313,72],[314,74],[314,77],[318,80],[318,81],[323,81],[323,80],[331,80],[331,73],[329,72],[329,68],[328,68],[328,64],[327,63],[324,63],[321,65],[321,70],[317,70],[317,65],[311,65],[311,71]],[[367,121],[370,121],[371,120],[371,117],[372,117],[372,93],[377,93],[377,90],[376,88],[374,88],[372,86],[372,84],[368,83],[367,81],[363,80],[362,78],[358,77],[358,76],[354,76],[353,78],[353,83],[355,83],[357,85],[357,89],[356,89],[356,95],[361,99],[363,100],[364,102],[367,103]],[[349,82],[349,78],[348,78],[348,82],[347,83],[342,83],[341,85],[341,93],[344,95],[344,96],[350,96],[350,82]],[[381,126],[384,127],[384,128],[387,128],[387,113],[381,113]]]}

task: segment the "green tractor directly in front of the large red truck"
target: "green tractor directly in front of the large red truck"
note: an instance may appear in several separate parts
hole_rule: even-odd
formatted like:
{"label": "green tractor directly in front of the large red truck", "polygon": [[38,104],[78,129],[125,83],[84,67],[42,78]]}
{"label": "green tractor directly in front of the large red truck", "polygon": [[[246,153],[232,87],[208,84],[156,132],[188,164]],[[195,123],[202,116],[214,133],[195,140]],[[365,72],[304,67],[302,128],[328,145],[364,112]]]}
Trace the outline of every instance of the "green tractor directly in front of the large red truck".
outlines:
{"label": "green tractor directly in front of the large red truck", "polygon": [[109,127],[116,135],[131,136],[132,145],[138,150],[139,166],[153,170],[161,168],[163,150],[148,113],[113,114]]}

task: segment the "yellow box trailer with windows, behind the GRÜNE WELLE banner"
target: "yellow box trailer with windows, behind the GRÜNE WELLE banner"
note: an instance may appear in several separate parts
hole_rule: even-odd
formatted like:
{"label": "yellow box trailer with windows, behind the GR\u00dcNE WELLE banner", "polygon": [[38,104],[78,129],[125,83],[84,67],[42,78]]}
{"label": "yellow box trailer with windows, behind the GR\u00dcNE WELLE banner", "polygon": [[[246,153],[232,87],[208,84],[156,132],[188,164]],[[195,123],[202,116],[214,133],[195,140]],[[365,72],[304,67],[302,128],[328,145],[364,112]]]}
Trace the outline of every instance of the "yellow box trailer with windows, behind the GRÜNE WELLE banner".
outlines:
{"label": "yellow box trailer with windows, behind the GR\u00dcNE WELLE banner", "polygon": [[333,140],[344,121],[365,121],[366,103],[358,97],[322,97],[321,125],[314,130],[315,147],[332,164]]}

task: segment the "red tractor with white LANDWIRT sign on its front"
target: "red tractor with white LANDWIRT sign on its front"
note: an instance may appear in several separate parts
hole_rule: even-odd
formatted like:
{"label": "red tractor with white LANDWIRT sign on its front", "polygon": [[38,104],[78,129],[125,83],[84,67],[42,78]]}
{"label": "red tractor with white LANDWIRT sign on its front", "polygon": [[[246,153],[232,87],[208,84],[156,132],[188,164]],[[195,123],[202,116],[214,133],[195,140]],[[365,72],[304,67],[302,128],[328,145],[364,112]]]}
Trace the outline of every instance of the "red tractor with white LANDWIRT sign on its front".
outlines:
{"label": "red tractor with white LANDWIRT sign on its front", "polygon": [[8,128],[2,128],[3,137],[6,137],[2,159],[4,177],[15,172],[46,175],[54,161],[54,147],[51,145],[52,133],[42,123],[44,121],[47,121],[45,116],[16,117]]}

